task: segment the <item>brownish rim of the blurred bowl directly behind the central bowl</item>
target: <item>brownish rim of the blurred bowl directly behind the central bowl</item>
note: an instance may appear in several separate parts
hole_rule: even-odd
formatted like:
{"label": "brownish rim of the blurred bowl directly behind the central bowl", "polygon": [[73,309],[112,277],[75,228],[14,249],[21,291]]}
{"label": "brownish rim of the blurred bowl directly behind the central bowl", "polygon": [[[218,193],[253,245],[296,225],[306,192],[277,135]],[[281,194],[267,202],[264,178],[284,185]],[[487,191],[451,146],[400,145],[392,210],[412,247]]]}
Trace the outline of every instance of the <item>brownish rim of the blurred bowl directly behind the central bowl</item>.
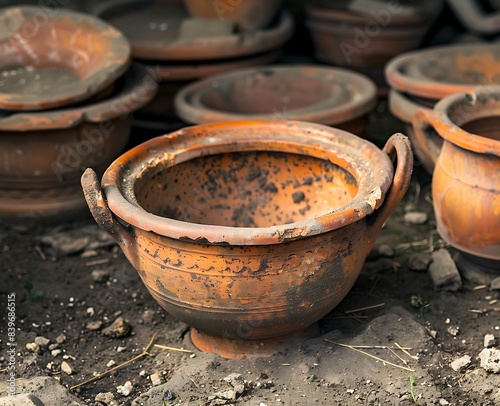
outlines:
{"label": "brownish rim of the blurred bowl directly behind the central bowl", "polygon": [[[235,78],[253,76],[260,71],[273,71],[277,74],[280,72],[292,75],[296,74],[317,79],[321,82],[326,82],[323,75],[328,75],[330,77],[328,82],[332,85],[340,85],[342,88],[344,88],[343,85],[348,87],[348,90],[345,91],[349,96],[347,103],[336,105],[337,100],[334,94],[330,98],[311,106],[287,111],[287,116],[292,120],[335,125],[368,114],[377,103],[377,88],[375,84],[361,73],[338,67],[323,67],[320,65],[271,65],[222,73],[187,85],[175,96],[176,113],[183,120],[196,124],[228,120],[275,120],[274,113],[238,114],[215,110],[206,106],[193,105],[190,101],[193,95],[211,89],[214,81],[232,81]],[[357,93],[352,89],[354,86],[357,87]],[[193,119],[194,117],[196,120]]]}

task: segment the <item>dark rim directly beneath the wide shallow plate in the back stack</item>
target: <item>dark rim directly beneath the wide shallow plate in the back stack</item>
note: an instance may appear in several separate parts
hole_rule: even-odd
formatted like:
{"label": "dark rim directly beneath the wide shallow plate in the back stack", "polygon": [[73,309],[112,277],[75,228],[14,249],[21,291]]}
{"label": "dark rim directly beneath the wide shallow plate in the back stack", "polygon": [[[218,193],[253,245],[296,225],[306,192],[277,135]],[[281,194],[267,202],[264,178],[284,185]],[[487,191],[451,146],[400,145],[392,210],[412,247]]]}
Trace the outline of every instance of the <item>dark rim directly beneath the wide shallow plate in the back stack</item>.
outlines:
{"label": "dark rim directly beneath the wide shallow plate in the back stack", "polygon": [[194,61],[193,63],[186,62],[183,65],[168,65],[168,63],[165,63],[148,65],[148,69],[150,69],[150,72],[160,81],[196,80],[213,74],[219,74],[223,70],[233,71],[248,66],[265,65],[266,63],[278,59],[281,53],[281,49],[273,49],[263,54],[222,60],[215,63],[203,61]]}

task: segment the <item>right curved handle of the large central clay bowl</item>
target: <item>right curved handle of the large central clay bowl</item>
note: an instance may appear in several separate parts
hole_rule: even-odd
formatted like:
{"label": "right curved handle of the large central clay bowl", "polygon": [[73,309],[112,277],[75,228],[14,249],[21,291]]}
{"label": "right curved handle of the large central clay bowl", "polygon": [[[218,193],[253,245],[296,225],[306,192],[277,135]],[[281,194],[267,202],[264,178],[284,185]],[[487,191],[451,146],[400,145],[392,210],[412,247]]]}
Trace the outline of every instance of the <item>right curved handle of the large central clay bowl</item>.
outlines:
{"label": "right curved handle of the large central clay bowl", "polygon": [[396,208],[408,190],[413,172],[413,151],[410,140],[406,135],[401,133],[392,135],[387,140],[383,151],[389,155],[393,163],[397,161],[396,171],[392,185],[385,195],[384,202],[373,214],[366,217],[370,238],[367,244],[368,251],[366,255],[373,248],[373,244],[387,217],[389,217],[389,214]]}

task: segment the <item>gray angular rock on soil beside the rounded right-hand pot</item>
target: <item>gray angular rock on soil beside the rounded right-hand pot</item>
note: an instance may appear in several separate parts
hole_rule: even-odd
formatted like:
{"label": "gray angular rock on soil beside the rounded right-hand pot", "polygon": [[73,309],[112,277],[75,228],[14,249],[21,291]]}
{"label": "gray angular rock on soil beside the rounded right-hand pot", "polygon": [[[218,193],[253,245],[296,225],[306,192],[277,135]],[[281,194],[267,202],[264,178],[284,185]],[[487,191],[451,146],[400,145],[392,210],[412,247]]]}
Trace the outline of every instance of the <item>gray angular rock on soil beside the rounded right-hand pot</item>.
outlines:
{"label": "gray angular rock on soil beside the rounded right-hand pot", "polygon": [[455,261],[445,249],[432,253],[429,274],[436,290],[456,291],[462,287],[462,278]]}

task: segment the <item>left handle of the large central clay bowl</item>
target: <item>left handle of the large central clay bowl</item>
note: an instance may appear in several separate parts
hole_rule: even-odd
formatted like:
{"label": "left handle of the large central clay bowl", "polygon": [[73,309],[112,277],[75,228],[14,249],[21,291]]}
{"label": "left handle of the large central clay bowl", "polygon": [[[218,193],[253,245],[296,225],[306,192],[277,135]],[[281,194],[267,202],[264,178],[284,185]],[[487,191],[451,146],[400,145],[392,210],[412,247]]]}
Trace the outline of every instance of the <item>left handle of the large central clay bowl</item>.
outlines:
{"label": "left handle of the large central clay bowl", "polygon": [[120,245],[128,260],[135,267],[137,256],[135,241],[128,229],[122,225],[109,209],[108,202],[101,188],[97,174],[87,168],[81,179],[83,194],[96,223]]}

